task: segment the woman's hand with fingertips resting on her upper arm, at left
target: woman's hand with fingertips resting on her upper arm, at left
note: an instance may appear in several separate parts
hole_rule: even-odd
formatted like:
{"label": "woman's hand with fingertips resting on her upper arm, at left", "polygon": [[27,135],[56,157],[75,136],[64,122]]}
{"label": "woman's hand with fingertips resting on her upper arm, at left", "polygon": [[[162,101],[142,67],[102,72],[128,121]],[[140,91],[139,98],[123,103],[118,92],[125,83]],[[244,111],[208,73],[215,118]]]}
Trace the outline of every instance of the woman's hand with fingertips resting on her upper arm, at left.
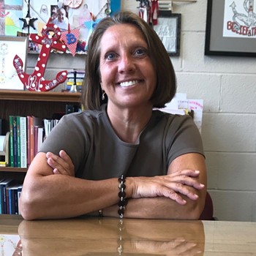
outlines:
{"label": "woman's hand with fingertips resting on her upper arm, at left", "polygon": [[75,166],[64,150],[59,151],[59,156],[48,152],[46,157],[48,165],[53,168],[53,174],[75,176]]}

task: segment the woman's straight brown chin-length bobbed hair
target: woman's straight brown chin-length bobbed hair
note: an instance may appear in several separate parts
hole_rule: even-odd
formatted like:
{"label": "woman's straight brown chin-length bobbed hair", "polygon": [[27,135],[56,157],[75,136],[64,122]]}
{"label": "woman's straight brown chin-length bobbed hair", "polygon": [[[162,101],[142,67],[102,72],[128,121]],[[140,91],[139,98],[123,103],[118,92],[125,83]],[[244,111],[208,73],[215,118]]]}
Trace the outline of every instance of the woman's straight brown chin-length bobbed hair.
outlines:
{"label": "woman's straight brown chin-length bobbed hair", "polygon": [[164,108],[176,94],[176,75],[165,46],[157,33],[142,18],[133,12],[118,12],[112,18],[99,21],[89,39],[86,56],[86,78],[83,81],[82,104],[84,109],[99,109],[102,105],[99,56],[100,42],[105,31],[116,24],[132,24],[143,34],[149,50],[149,57],[156,70],[157,86],[151,97],[154,108]]}

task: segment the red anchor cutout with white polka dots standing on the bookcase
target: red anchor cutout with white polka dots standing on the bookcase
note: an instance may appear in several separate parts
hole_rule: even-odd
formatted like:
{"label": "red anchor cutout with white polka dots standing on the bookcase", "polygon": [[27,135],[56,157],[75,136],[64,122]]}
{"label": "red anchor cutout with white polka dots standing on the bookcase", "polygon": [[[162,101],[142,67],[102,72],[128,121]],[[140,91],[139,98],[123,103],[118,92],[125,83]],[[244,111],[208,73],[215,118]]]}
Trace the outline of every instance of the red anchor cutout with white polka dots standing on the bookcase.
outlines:
{"label": "red anchor cutout with white polka dots standing on the bookcase", "polygon": [[[61,37],[59,27],[50,23],[50,20],[51,19],[48,20],[48,23],[42,29],[42,37],[37,34],[31,34],[29,37],[29,40],[42,45],[33,74],[29,75],[23,72],[23,61],[18,55],[15,55],[13,59],[13,65],[17,71],[18,77],[29,91],[50,91],[67,79],[67,70],[59,72],[53,80],[45,80],[43,77],[51,48],[64,52],[67,50],[65,44],[58,42]],[[49,32],[53,32],[53,34]]]}

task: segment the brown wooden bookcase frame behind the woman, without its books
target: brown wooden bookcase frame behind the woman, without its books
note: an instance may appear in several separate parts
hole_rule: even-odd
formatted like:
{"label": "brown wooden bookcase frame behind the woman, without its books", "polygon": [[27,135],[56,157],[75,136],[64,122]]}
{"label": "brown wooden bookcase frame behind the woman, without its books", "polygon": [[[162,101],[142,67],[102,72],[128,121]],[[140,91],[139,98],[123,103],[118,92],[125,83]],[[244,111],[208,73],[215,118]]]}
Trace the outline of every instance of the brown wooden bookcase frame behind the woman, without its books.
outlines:
{"label": "brown wooden bookcase frame behind the woman, without its books", "polygon": [[[7,121],[11,115],[52,118],[53,114],[65,113],[67,104],[80,105],[80,95],[79,92],[0,90],[0,118]],[[23,180],[26,171],[26,168],[0,167],[0,179]]]}

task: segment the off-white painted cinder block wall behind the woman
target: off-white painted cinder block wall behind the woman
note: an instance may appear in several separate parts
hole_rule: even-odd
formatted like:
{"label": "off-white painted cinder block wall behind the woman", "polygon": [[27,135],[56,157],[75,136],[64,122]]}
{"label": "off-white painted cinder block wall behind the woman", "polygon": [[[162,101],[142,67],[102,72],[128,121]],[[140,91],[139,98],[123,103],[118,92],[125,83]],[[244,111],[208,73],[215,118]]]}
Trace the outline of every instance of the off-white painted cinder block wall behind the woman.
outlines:
{"label": "off-white painted cinder block wall behind the woman", "polygon": [[[202,137],[214,215],[255,222],[256,60],[204,56],[206,5],[206,0],[173,2],[173,12],[181,13],[181,55],[172,57],[178,92],[204,100]],[[137,12],[137,6],[138,1],[121,0],[122,10]],[[37,56],[29,55],[29,71],[36,62]],[[83,67],[83,55],[51,54],[45,78]]]}

